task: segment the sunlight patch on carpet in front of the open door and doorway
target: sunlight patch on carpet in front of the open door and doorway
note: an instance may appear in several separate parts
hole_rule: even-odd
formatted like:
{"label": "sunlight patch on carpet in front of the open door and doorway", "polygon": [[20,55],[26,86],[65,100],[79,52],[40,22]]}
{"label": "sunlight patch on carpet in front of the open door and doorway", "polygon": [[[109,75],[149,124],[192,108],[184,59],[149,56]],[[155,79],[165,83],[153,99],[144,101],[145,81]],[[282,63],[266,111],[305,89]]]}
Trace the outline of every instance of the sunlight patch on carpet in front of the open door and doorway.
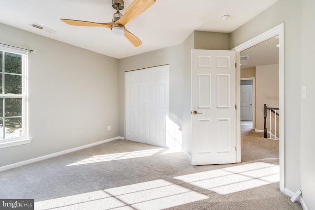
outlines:
{"label": "sunlight patch on carpet in front of the open door and doorway", "polygon": [[279,182],[279,173],[279,165],[256,162],[174,177],[174,179],[226,195]]}

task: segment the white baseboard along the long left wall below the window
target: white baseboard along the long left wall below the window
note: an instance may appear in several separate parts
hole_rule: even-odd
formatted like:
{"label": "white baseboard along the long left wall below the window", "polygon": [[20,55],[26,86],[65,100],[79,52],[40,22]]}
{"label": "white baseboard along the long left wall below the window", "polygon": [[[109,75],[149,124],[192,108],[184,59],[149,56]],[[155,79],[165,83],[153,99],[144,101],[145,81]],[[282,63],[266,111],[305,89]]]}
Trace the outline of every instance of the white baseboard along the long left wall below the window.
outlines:
{"label": "white baseboard along the long left wall below the window", "polygon": [[70,152],[73,152],[73,151],[83,150],[83,149],[90,148],[90,147],[93,147],[93,146],[96,146],[96,145],[104,144],[106,142],[111,142],[111,141],[114,141],[114,140],[117,140],[117,139],[124,140],[125,138],[121,137],[121,136],[118,136],[118,137],[114,137],[114,138],[111,138],[111,139],[106,139],[106,140],[103,140],[103,141],[100,141],[100,142],[95,142],[95,143],[92,143],[92,144],[88,144],[88,145],[83,145],[83,146],[80,146],[80,147],[72,148],[72,149],[69,149],[69,150],[63,150],[63,151],[55,152],[55,153],[52,153],[52,154],[47,154],[47,155],[44,155],[44,156],[35,157],[33,159],[25,160],[25,161],[22,161],[22,162],[13,163],[13,164],[6,165],[6,166],[1,166],[0,167],[0,172],[1,171],[5,171],[5,170],[9,170],[9,169],[12,169],[12,168],[16,168],[16,167],[19,167],[19,166],[24,166],[24,165],[27,165],[27,164],[30,164],[30,163],[34,163],[34,162],[37,162],[37,161],[45,160],[45,159],[48,159],[48,158],[51,158],[51,157],[56,157],[56,156],[59,156],[59,155],[62,155],[62,154],[70,153]]}

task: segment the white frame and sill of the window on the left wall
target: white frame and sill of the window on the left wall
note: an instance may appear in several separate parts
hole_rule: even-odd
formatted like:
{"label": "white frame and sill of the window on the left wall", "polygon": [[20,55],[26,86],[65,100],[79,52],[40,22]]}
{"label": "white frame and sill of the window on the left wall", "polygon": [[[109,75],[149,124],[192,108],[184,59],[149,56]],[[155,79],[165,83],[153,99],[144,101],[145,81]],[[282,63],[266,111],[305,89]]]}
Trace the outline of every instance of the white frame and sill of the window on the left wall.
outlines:
{"label": "white frame and sill of the window on the left wall", "polygon": [[[22,98],[22,136],[18,138],[0,140],[0,149],[24,145],[31,143],[29,138],[29,123],[28,123],[28,51],[16,50],[0,46],[0,51],[3,53],[14,53],[22,56],[22,94],[14,94],[13,97]],[[3,63],[2,63],[3,64]],[[2,66],[3,68],[3,66]],[[9,94],[0,94],[1,96],[10,97]]]}

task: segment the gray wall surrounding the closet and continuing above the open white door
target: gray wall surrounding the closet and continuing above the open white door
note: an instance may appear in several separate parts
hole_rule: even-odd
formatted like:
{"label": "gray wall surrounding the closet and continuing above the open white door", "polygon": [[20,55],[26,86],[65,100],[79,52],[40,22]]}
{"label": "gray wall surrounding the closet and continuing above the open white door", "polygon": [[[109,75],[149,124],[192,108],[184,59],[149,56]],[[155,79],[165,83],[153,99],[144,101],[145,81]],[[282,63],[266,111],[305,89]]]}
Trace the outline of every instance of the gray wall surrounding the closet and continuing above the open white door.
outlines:
{"label": "gray wall surrounding the closet and continuing above the open white door", "polygon": [[[205,44],[203,44],[205,43]],[[170,64],[170,120],[180,127],[182,149],[191,154],[191,49],[228,50],[229,34],[193,31],[180,45],[119,60],[120,136],[125,127],[125,71]]]}

